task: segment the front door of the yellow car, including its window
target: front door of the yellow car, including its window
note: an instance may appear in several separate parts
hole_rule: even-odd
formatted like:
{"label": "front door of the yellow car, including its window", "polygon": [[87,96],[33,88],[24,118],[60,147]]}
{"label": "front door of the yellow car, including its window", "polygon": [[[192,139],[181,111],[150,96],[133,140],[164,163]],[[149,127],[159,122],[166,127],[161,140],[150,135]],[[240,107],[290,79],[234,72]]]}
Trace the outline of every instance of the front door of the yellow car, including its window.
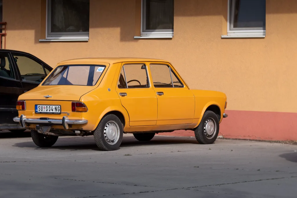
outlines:
{"label": "front door of the yellow car, including its window", "polygon": [[195,97],[170,65],[151,63],[150,73],[158,100],[157,125],[192,123]]}

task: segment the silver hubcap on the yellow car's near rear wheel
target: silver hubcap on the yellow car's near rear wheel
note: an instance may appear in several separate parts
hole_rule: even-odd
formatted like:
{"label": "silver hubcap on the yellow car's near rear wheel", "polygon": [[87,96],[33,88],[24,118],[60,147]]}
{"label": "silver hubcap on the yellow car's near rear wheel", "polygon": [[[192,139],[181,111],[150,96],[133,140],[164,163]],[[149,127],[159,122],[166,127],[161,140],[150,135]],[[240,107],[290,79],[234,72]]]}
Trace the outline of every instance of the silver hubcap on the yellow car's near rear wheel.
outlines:
{"label": "silver hubcap on the yellow car's near rear wheel", "polygon": [[104,139],[110,144],[114,145],[118,142],[120,137],[120,128],[119,125],[115,121],[109,121],[106,123],[104,128]]}

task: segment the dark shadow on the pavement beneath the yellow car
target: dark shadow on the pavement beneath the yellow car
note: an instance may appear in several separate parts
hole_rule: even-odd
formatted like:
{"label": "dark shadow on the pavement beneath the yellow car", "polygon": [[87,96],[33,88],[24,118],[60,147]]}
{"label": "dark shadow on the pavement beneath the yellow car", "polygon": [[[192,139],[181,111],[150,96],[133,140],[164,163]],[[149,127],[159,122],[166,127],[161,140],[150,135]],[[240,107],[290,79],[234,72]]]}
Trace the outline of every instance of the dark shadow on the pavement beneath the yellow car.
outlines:
{"label": "dark shadow on the pavement beneath the yellow car", "polygon": [[[123,141],[119,149],[124,147],[148,146],[148,145],[174,145],[174,144],[198,144],[195,138],[188,137],[160,137],[156,136],[151,141],[140,142],[134,137],[123,137]],[[93,136],[88,137],[63,137],[59,138],[55,145],[49,148],[37,147],[33,142],[18,142],[13,145],[19,148],[35,148],[35,149],[59,149],[59,150],[95,150],[99,151],[94,142]]]}

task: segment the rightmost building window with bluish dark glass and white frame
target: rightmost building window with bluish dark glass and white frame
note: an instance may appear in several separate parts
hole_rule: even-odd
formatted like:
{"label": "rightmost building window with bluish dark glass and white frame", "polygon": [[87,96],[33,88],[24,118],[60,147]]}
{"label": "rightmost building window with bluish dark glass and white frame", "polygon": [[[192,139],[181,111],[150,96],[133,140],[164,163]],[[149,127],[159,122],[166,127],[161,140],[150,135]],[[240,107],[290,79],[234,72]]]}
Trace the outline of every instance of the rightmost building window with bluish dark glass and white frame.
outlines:
{"label": "rightmost building window with bluish dark glass and white frame", "polygon": [[228,35],[265,36],[266,0],[228,0]]}

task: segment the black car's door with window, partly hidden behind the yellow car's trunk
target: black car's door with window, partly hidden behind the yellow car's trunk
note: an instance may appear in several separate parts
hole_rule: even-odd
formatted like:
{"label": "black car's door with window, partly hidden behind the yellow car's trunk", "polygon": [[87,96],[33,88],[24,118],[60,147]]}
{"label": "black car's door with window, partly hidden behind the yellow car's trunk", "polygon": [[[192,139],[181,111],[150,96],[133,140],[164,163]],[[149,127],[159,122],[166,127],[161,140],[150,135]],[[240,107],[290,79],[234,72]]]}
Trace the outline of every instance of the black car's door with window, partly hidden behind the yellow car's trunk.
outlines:
{"label": "black car's door with window, partly hidden behind the yellow car's trunk", "polygon": [[11,54],[23,86],[23,92],[37,87],[51,71],[50,67],[34,56],[17,52]]}

